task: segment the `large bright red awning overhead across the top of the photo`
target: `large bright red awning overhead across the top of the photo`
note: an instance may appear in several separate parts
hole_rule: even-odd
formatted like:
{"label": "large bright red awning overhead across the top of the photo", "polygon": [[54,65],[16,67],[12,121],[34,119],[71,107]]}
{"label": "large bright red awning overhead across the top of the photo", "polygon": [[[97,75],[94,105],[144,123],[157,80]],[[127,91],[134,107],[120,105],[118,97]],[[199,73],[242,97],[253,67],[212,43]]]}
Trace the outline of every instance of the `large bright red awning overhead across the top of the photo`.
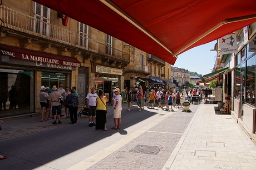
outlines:
{"label": "large bright red awning overhead across the top of the photo", "polygon": [[255,0],[33,0],[174,64],[178,54],[256,22]]}

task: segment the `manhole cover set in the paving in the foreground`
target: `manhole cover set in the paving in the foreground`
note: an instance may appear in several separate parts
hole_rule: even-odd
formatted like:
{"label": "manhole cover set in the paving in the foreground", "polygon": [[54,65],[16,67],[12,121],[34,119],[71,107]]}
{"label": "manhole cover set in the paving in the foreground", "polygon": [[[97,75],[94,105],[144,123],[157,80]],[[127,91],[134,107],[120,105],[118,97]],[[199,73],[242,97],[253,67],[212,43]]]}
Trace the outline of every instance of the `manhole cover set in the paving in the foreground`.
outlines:
{"label": "manhole cover set in the paving in the foreground", "polygon": [[143,144],[138,144],[130,152],[155,154],[156,155],[161,151],[162,148],[163,147],[147,146],[147,145],[143,145]]}

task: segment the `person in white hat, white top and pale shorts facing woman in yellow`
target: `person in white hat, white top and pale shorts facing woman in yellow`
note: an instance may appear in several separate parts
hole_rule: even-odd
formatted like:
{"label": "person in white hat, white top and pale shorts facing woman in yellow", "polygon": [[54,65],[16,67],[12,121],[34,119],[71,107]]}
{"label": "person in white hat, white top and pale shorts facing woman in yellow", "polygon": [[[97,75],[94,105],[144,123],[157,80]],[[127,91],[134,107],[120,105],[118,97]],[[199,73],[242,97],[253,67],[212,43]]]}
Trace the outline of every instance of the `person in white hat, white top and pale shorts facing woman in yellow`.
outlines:
{"label": "person in white hat, white top and pale shorts facing woman in yellow", "polygon": [[[120,124],[121,124],[121,111],[122,111],[122,96],[120,95],[120,89],[116,88],[114,93],[116,94],[113,108],[114,108],[114,113],[113,113],[113,118],[114,118],[114,123],[115,126],[112,127],[111,129],[120,129]],[[117,124],[117,119],[118,119],[118,124]]]}

